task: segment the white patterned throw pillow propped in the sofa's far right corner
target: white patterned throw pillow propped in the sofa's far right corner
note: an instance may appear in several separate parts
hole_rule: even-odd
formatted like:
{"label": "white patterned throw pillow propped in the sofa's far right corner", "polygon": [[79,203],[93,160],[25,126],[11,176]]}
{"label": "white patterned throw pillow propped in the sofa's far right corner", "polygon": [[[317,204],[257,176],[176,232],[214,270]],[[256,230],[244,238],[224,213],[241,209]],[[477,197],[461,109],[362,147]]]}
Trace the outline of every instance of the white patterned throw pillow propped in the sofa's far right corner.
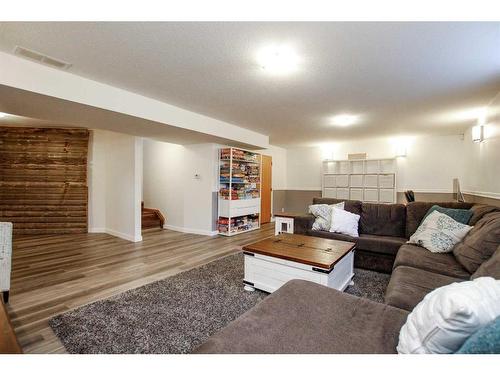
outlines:
{"label": "white patterned throw pillow propped in the sofa's far right corner", "polygon": [[434,211],[424,219],[408,243],[425,247],[433,253],[449,253],[471,229],[469,225]]}

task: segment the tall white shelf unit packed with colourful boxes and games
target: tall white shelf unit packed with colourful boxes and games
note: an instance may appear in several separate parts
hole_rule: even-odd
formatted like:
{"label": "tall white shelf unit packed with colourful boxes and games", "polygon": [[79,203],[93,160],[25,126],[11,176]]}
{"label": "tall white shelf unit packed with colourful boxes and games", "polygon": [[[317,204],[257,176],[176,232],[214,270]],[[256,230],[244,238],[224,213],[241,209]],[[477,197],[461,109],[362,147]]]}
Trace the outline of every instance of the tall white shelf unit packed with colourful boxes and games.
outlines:
{"label": "tall white shelf unit packed with colourful boxes and games", "polygon": [[219,150],[219,234],[260,228],[260,181],[260,154],[235,147]]}

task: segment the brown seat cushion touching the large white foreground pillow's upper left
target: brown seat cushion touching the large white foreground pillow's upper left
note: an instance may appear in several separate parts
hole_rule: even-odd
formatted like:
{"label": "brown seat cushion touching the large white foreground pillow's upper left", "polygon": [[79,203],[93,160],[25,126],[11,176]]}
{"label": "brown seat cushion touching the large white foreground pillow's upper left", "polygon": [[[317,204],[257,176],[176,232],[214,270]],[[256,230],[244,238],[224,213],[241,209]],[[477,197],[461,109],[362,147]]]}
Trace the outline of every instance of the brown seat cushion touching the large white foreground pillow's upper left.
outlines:
{"label": "brown seat cushion touching the large white foreground pillow's upper left", "polygon": [[463,279],[399,266],[392,272],[385,292],[385,303],[411,311],[429,292],[458,281]]}

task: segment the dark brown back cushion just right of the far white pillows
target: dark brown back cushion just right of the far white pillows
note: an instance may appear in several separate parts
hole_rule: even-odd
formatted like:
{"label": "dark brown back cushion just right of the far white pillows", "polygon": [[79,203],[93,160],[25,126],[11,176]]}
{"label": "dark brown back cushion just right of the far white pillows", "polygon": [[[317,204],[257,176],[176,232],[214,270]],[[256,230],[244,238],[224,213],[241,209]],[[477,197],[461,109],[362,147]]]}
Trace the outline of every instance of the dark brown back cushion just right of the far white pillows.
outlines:
{"label": "dark brown back cushion just right of the far white pillows", "polygon": [[363,203],[359,233],[405,236],[406,206],[403,204]]}

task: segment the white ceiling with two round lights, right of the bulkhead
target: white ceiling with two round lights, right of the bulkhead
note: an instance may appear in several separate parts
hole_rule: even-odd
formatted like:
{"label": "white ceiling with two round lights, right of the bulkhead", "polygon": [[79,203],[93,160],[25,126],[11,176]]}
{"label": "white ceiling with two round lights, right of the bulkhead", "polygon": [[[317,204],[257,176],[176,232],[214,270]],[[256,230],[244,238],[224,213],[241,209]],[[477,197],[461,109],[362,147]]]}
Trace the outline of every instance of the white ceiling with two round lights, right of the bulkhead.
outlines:
{"label": "white ceiling with two round lights, right of the bulkhead", "polygon": [[[297,72],[258,66],[275,43]],[[16,45],[281,146],[459,134],[500,91],[500,23],[0,23],[0,50]],[[360,123],[334,127],[339,113]]]}

